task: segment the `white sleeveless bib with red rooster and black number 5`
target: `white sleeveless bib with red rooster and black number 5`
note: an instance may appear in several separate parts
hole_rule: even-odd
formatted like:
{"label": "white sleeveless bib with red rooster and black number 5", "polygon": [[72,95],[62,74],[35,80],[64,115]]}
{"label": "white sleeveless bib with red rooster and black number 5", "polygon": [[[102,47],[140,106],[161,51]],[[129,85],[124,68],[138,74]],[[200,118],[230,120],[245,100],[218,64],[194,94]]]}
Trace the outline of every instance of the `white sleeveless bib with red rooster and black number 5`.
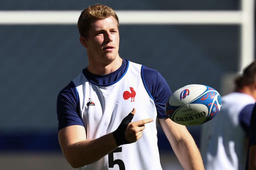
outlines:
{"label": "white sleeveless bib with red rooster and black number 5", "polygon": [[132,122],[148,118],[154,121],[145,125],[142,137],[135,143],[120,145],[79,170],[162,170],[157,146],[157,112],[141,78],[142,65],[128,62],[127,68],[120,79],[108,86],[88,81],[83,73],[73,80],[87,139],[116,130],[133,108],[136,113]]}

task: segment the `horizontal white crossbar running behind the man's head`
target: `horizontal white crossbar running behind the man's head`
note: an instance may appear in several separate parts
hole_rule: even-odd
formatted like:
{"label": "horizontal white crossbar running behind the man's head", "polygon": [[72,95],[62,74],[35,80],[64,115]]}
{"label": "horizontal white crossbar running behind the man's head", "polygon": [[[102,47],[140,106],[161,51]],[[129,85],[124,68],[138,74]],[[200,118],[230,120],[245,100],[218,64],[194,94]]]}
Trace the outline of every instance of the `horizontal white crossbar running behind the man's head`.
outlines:
{"label": "horizontal white crossbar running behind the man's head", "polygon": [[[75,25],[81,11],[0,11],[0,25]],[[120,24],[241,24],[241,11],[116,10]]]}

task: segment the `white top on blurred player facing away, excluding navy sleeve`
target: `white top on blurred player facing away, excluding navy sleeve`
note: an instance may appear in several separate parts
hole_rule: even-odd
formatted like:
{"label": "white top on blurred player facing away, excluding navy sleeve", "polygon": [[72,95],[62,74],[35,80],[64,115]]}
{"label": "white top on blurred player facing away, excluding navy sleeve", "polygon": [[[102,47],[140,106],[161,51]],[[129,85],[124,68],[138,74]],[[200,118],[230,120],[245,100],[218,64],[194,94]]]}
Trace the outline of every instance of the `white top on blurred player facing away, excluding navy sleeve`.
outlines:
{"label": "white top on blurred player facing away, excluding navy sleeve", "polygon": [[244,170],[246,134],[239,125],[239,114],[255,99],[233,92],[222,97],[222,106],[214,119],[202,125],[200,152],[206,170]]}

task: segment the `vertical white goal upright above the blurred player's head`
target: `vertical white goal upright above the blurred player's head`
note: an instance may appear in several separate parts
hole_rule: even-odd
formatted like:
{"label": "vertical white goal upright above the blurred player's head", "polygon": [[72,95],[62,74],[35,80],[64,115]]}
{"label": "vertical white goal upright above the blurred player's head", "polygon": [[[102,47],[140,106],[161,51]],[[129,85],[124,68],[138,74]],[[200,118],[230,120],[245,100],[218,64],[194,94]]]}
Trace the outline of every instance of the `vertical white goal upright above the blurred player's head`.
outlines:
{"label": "vertical white goal upright above the blurred player's head", "polygon": [[239,73],[254,60],[254,0],[242,0]]}

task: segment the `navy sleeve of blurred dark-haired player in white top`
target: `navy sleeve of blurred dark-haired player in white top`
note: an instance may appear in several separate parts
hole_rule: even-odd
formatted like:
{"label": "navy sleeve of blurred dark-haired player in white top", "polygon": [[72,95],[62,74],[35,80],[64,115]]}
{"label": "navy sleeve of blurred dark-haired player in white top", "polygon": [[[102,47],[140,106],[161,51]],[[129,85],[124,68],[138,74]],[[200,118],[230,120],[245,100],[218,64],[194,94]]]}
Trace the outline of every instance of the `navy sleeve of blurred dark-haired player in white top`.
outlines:
{"label": "navy sleeve of blurred dark-haired player in white top", "polygon": [[246,105],[239,114],[239,123],[248,134],[254,104]]}

